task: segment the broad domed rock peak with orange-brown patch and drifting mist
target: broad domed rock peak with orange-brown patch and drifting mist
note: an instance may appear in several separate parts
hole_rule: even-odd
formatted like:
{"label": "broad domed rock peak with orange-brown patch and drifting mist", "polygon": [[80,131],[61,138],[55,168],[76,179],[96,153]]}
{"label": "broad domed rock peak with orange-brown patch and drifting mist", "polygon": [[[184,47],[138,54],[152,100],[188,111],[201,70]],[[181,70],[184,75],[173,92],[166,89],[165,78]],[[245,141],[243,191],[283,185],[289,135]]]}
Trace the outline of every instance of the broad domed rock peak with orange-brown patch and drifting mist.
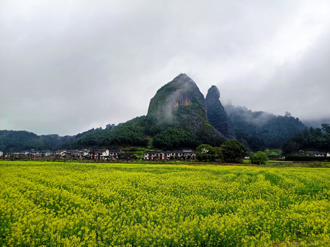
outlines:
{"label": "broad domed rock peak with orange-brown patch and drifting mist", "polygon": [[148,116],[155,117],[159,125],[224,137],[208,122],[203,94],[186,74],[178,75],[157,91],[149,104]]}

